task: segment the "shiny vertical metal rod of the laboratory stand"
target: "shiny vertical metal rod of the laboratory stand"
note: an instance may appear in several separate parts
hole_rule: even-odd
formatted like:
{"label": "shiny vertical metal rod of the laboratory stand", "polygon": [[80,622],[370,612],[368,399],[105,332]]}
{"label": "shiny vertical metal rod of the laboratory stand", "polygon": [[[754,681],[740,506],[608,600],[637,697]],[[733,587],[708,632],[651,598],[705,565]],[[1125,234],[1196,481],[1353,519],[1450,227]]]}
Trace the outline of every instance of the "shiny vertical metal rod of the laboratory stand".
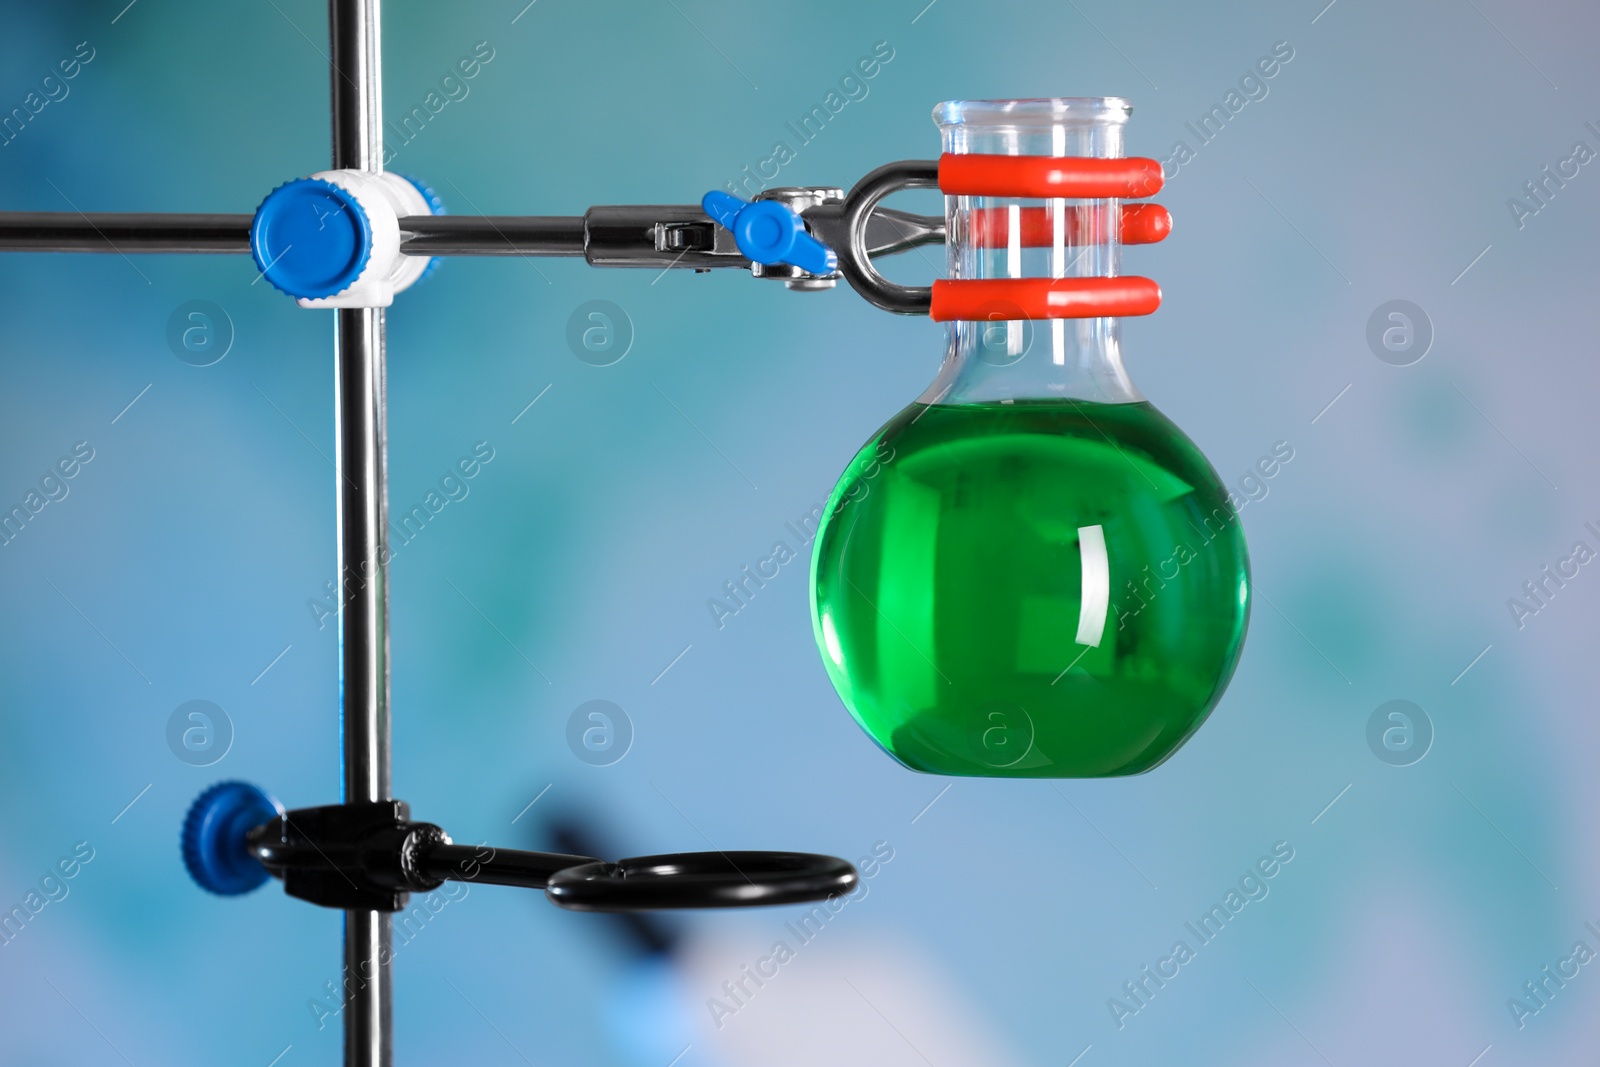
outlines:
{"label": "shiny vertical metal rod of the laboratory stand", "polygon": [[[334,170],[382,170],[378,0],[328,0]],[[346,803],[389,798],[389,549],[384,312],[339,310],[338,437],[339,715]],[[346,1067],[394,1062],[390,921],[346,912]]]}

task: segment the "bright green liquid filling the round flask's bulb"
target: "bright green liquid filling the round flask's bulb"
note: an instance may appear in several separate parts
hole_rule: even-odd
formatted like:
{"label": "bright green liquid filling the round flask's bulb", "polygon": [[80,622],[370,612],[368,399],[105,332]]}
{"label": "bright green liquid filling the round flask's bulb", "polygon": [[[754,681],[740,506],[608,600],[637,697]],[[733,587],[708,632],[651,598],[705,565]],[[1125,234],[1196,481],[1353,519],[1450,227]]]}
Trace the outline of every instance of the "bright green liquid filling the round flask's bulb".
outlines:
{"label": "bright green liquid filling the round flask's bulb", "polygon": [[1238,515],[1149,403],[912,405],[845,470],[813,557],[834,688],[933,774],[1149,771],[1211,712],[1248,616]]}

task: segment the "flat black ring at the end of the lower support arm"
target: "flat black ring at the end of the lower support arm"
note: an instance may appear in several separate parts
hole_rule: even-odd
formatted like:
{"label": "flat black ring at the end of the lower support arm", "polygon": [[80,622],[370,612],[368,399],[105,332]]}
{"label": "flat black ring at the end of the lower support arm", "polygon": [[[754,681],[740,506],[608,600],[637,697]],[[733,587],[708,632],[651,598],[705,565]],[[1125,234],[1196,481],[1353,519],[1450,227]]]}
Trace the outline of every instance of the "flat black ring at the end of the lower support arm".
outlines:
{"label": "flat black ring at the end of the lower support arm", "polygon": [[834,856],[810,853],[677,853],[568,867],[544,894],[573,912],[757,907],[822,901],[850,893],[861,875]]}

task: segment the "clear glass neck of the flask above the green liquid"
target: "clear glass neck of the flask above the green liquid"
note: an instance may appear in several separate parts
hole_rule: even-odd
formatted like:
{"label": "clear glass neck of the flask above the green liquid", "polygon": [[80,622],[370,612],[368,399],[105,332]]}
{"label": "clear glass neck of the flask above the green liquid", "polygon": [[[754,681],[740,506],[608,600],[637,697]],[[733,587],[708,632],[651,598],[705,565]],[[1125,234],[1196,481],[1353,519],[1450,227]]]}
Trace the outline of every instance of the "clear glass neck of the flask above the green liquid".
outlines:
{"label": "clear glass neck of the flask above the green liquid", "polygon": [[[1120,158],[1133,109],[1117,98],[952,101],[934,109],[950,155]],[[1120,200],[946,197],[950,278],[1115,277]],[[952,322],[949,350],[922,403],[1144,397],[1122,365],[1118,318],[1027,320],[997,301]]]}

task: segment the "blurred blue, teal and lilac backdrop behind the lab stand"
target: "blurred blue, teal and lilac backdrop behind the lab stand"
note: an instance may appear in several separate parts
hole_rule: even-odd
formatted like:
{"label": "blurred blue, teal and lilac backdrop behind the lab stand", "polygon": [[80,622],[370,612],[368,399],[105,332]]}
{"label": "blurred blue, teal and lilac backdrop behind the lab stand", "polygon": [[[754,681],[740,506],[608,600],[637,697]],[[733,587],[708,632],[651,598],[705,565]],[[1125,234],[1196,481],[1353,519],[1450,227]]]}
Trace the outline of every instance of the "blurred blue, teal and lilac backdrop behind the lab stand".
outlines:
{"label": "blurred blue, teal and lilac backdrop behind the lab stand", "polygon": [[[662,961],[603,917],[475,886],[397,953],[397,1062],[1594,1061],[1600,966],[1562,961],[1600,950],[1600,576],[1542,606],[1523,582],[1600,549],[1600,171],[1573,163],[1542,202],[1525,182],[1600,150],[1600,13],[1325,2],[389,5],[397,123],[493,54],[390,163],[458,213],[694,202],[880,42],[869,94],[779,182],[931,157],[941,99],[1126,96],[1130,152],[1192,152],[1162,194],[1171,240],[1126,254],[1166,293],[1126,325],[1130,370],[1232,485],[1294,450],[1243,510],[1240,670],[1178,757],[1123,781],[925,777],[832,693],[805,565],[722,629],[706,601],[925,387],[942,331],[736,274],[445,262],[389,314],[390,506],[478,442],[494,458],[397,552],[398,795],[464,841],[549,846],[565,821],[616,854],[893,861],[733,1014],[709,1001],[733,1006],[723,982],[802,909],[675,917]],[[3,210],[245,213],[328,165],[314,0],[8,0],[0,26],[0,114],[59,98],[0,147]],[[1278,42],[1267,94],[1202,144],[1186,123]],[[11,1064],[339,1059],[317,1006],[339,917],[275,886],[206,896],[178,857],[213,781],[338,793],[334,630],[310,606],[334,576],[331,317],[254,277],[0,258],[0,502],[93,450],[0,547],[0,907],[30,915],[0,945]],[[610,366],[566,342],[594,299],[634,331]],[[1368,344],[1394,299],[1432,325],[1406,366]],[[190,301],[232,326],[210,366],[168,344]],[[1514,597],[1539,606],[1520,625]],[[594,699],[634,729],[610,766],[566,742]],[[1408,766],[1368,744],[1394,699],[1434,734]],[[210,766],[168,744],[189,701],[230,723]],[[1266,899],[1198,947],[1184,923],[1280,841]],[[75,846],[93,859],[46,881]],[[1123,984],[1179,939],[1195,958],[1139,1006]]]}

